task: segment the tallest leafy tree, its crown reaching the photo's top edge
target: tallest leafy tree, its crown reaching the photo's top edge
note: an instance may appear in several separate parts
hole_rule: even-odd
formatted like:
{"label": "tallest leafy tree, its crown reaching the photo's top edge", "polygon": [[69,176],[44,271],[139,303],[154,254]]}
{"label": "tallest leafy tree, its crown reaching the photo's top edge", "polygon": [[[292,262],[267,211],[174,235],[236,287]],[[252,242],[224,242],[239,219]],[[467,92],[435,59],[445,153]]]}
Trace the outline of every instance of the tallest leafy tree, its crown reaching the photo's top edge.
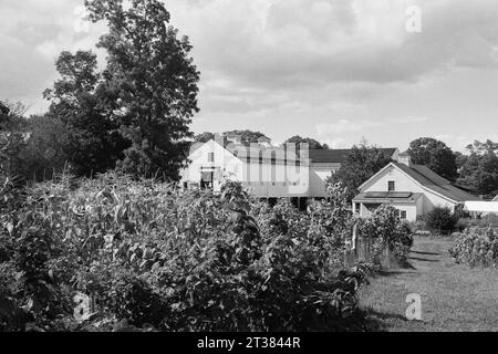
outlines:
{"label": "tallest leafy tree, its crown reaching the photo's top edge", "polygon": [[85,1],[93,22],[106,21],[108,33],[97,44],[107,51],[101,84],[106,112],[131,142],[118,166],[135,176],[177,179],[193,137],[189,124],[197,107],[199,73],[186,37],[168,24],[158,0]]}

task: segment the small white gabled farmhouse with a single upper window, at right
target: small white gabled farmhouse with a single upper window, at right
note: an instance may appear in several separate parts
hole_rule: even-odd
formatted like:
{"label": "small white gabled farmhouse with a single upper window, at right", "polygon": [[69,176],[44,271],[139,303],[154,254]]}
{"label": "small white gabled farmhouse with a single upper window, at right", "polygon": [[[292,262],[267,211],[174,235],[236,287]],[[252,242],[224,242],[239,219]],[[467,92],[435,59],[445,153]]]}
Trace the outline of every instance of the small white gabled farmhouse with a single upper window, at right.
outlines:
{"label": "small white gabled farmhouse with a single upper window, at right", "polygon": [[436,206],[461,212],[465,202],[470,200],[479,198],[455,187],[427,166],[413,165],[409,155],[400,154],[397,162],[360,187],[360,194],[353,199],[353,211],[366,217],[380,205],[388,204],[400,210],[402,219],[415,221]]}

